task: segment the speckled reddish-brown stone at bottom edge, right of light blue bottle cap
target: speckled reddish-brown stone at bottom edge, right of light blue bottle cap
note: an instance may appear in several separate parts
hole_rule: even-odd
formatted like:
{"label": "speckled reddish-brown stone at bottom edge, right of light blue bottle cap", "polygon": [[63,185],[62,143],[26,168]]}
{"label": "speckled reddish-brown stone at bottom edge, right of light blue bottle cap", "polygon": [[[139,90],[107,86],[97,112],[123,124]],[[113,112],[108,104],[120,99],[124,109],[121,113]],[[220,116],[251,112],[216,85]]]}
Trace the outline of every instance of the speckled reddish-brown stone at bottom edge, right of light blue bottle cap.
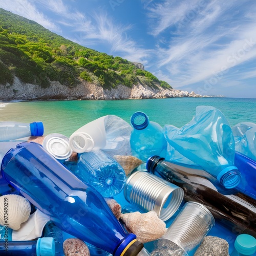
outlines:
{"label": "speckled reddish-brown stone at bottom edge, right of light blue bottle cap", "polygon": [[69,238],[63,242],[65,256],[90,256],[86,243],[78,238]]}

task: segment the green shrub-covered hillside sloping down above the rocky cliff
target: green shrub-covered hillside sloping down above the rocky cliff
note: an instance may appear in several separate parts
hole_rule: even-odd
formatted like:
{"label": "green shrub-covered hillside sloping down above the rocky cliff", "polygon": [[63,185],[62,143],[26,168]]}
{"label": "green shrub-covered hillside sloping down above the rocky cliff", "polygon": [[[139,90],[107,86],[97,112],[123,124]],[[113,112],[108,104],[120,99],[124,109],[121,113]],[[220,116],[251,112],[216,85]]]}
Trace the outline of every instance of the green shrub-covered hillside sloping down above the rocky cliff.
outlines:
{"label": "green shrub-covered hillside sloping down above the rocky cliff", "polygon": [[80,46],[0,8],[0,84],[11,84],[14,75],[44,88],[50,80],[72,88],[82,79],[106,89],[137,83],[172,88],[126,59]]}

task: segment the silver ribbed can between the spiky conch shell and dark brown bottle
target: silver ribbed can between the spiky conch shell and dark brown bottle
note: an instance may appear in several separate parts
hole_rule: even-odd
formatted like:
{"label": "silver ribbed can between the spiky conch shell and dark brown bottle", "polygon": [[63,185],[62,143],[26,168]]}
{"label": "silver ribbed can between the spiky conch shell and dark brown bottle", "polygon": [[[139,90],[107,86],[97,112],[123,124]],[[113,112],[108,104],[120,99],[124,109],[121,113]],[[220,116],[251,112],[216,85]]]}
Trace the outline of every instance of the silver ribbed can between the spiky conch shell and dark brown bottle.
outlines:
{"label": "silver ribbed can between the spiky conch shell and dark brown bottle", "polygon": [[187,253],[203,241],[214,225],[215,219],[204,205],[187,202],[159,242],[172,241]]}

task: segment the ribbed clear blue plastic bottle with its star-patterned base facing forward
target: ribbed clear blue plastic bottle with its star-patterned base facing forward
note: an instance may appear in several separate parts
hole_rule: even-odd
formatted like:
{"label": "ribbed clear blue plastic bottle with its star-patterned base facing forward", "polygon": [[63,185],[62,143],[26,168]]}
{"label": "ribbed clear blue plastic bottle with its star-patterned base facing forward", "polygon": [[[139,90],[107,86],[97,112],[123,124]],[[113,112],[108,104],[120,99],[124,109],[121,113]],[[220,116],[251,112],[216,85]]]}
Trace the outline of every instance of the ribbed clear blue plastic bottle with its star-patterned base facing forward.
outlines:
{"label": "ribbed clear blue plastic bottle with its star-patterned base facing forward", "polygon": [[126,176],[122,166],[100,150],[80,154],[78,168],[75,175],[103,197],[114,197],[124,187]]}

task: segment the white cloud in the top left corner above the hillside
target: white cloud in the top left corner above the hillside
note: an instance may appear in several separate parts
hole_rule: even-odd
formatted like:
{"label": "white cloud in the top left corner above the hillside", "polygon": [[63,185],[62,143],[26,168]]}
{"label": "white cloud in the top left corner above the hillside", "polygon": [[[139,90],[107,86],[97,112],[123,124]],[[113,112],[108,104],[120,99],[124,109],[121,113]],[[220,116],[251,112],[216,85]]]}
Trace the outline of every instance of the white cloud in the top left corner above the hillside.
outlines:
{"label": "white cloud in the top left corner above the hillside", "polygon": [[0,7],[12,13],[18,14],[25,18],[34,20],[43,27],[54,31],[60,32],[60,29],[50,20],[44,13],[40,12],[35,5],[28,0],[0,0]]}

